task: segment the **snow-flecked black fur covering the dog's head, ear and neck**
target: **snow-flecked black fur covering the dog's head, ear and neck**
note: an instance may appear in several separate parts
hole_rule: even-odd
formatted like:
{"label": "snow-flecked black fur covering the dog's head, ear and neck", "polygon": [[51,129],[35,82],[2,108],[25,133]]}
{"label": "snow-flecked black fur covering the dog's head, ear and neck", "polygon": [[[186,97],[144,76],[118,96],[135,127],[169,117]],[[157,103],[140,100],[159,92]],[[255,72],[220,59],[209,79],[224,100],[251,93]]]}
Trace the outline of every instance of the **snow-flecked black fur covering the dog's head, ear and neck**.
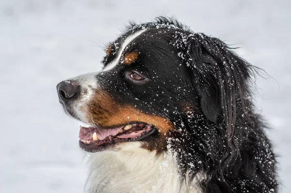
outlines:
{"label": "snow-flecked black fur covering the dog's head, ear and neck", "polygon": [[127,52],[139,52],[134,68],[157,78],[139,88],[129,83],[130,95],[140,101],[127,96],[123,102],[175,123],[179,132],[165,145],[177,153],[181,175],[206,172],[205,193],[276,192],[275,156],[249,90],[257,69],[221,40],[176,20],[157,18],[129,31],[143,26],[150,29]]}

